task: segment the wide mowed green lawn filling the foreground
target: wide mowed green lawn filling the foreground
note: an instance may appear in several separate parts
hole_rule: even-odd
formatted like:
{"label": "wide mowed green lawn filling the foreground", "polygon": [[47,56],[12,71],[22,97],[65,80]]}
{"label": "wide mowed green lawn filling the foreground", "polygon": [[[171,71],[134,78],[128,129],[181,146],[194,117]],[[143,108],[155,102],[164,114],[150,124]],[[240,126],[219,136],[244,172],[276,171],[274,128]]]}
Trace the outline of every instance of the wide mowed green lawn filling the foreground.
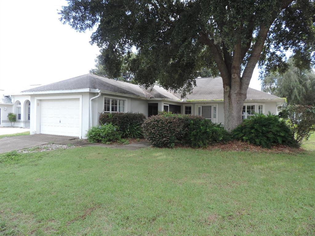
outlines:
{"label": "wide mowed green lawn filling the foreground", "polygon": [[315,234],[315,152],[82,147],[13,159],[0,163],[0,235]]}

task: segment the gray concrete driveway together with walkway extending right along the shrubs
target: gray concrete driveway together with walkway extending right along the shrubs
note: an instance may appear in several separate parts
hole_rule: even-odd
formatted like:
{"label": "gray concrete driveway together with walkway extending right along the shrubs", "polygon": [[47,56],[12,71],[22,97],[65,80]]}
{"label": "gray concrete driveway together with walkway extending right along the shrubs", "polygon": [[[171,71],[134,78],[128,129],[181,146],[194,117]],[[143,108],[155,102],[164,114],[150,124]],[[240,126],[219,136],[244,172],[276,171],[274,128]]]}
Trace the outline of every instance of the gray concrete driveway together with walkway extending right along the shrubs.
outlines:
{"label": "gray concrete driveway together with walkway extending right along the shrubs", "polygon": [[126,150],[136,150],[140,148],[151,147],[151,144],[147,141],[140,141],[136,143],[130,143],[127,145],[117,144],[103,144],[103,143],[88,143],[78,137],[50,135],[50,134],[33,134],[16,136],[9,138],[0,138],[0,153],[10,152],[14,150],[20,150],[24,148],[31,148],[38,145],[47,143],[58,144],[71,144],[75,146],[98,146],[106,148],[118,148]]}

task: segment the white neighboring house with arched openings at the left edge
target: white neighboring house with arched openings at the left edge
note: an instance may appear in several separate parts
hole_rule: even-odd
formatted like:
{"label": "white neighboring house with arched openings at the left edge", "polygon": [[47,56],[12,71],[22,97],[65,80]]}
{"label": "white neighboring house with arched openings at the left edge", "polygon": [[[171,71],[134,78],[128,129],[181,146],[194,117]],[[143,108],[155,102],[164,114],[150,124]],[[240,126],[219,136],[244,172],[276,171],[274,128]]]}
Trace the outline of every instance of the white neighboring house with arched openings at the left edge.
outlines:
{"label": "white neighboring house with arched openings at the left edge", "polygon": [[0,95],[0,126],[11,126],[8,114],[12,112],[16,114],[14,126],[30,127],[30,99],[28,95]]}

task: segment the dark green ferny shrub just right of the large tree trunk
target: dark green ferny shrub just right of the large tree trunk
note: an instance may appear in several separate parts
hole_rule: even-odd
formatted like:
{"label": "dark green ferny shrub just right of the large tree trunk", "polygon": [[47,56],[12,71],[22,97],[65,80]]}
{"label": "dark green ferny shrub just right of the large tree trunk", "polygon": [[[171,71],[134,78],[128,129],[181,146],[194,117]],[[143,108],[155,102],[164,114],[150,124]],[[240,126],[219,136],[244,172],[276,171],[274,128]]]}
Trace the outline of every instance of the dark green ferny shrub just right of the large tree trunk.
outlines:
{"label": "dark green ferny shrub just right of the large tree trunk", "polygon": [[255,114],[253,117],[244,119],[242,124],[232,131],[232,134],[235,139],[264,148],[277,144],[297,146],[285,120],[270,113],[268,115]]}

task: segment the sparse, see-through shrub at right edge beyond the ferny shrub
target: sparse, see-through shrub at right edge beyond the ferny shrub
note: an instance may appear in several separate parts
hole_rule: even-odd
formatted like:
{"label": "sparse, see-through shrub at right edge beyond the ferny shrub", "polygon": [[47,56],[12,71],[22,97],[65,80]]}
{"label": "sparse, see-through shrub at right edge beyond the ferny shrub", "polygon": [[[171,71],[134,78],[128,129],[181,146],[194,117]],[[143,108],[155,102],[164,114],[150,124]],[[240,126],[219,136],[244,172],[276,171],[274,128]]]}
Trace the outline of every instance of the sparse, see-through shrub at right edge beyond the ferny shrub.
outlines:
{"label": "sparse, see-through shrub at right edge beyond the ferny shrub", "polygon": [[288,105],[279,115],[288,119],[292,135],[299,145],[315,132],[315,106]]}

